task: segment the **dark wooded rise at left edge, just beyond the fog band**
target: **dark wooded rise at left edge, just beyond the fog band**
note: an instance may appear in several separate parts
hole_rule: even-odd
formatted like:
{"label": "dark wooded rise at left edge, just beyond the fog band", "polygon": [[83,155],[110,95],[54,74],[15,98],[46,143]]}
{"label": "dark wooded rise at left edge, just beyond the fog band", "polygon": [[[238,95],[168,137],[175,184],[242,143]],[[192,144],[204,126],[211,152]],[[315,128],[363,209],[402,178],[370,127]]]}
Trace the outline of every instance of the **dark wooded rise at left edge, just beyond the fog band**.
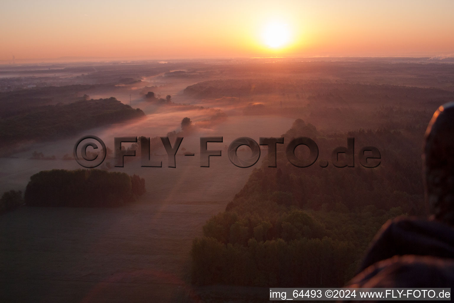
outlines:
{"label": "dark wooded rise at left edge, just beyond the fog band", "polygon": [[32,107],[26,113],[0,119],[0,147],[24,139],[58,139],[143,115],[141,109],[133,109],[114,97]]}

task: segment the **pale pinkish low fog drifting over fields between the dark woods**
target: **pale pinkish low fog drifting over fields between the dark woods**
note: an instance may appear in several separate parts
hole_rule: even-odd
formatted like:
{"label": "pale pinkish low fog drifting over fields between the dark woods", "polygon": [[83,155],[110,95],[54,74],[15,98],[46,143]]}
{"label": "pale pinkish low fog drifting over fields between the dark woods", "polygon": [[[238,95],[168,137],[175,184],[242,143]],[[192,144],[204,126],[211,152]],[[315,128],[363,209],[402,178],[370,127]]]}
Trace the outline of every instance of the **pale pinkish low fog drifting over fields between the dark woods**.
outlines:
{"label": "pale pinkish low fog drifting over fields between the dark woods", "polygon": [[[229,200],[236,188],[244,184],[252,168],[238,168],[227,157],[226,147],[233,139],[238,137],[251,137],[257,142],[259,137],[280,136],[290,128],[294,119],[278,116],[256,116],[243,115],[241,106],[237,101],[216,102],[216,100],[194,100],[187,99],[178,93],[190,83],[188,81],[178,81],[164,83],[161,75],[147,77],[142,87],[129,86],[121,90],[113,89],[90,94],[90,98],[109,98],[116,97],[124,104],[129,104],[128,91],[131,92],[132,105],[134,108],[142,109],[146,116],[142,119],[131,120],[126,123],[113,124],[106,127],[84,131],[70,139],[62,139],[55,142],[45,142],[33,144],[30,149],[13,154],[8,158],[0,158],[2,170],[0,172],[0,192],[10,189],[24,191],[30,176],[47,169],[83,169],[77,162],[64,160],[64,155],[72,157],[74,144],[83,135],[92,134],[104,140],[105,144],[113,149],[114,137],[123,136],[166,136],[168,132],[179,131],[181,120],[189,117],[192,120],[193,130],[191,134],[184,135],[183,142],[178,150],[177,167],[167,167],[167,156],[163,148],[152,150],[162,158],[163,168],[142,168],[138,153],[135,161],[126,161],[124,168],[113,168],[112,170],[126,172],[128,174],[138,174],[146,179],[148,192],[155,192],[155,199],[182,199],[189,200]],[[159,106],[147,101],[143,95],[138,95],[137,91],[143,90],[143,86],[155,85],[154,80],[159,78],[161,87],[156,93],[165,92],[172,95],[174,104]],[[192,80],[193,81],[193,80]],[[151,89],[150,89],[151,90]],[[88,92],[90,93],[90,92]],[[162,96],[165,98],[165,94]],[[223,100],[226,101],[226,100]],[[191,103],[191,104],[189,104]],[[184,104],[184,105],[183,105]],[[194,106],[195,104],[197,106]],[[244,102],[242,102],[244,104]],[[210,168],[201,168],[199,159],[199,138],[203,136],[223,136],[223,143],[210,143],[208,149],[223,149],[222,157],[211,157]],[[171,140],[173,144],[173,140]],[[128,147],[130,144],[123,144]],[[194,157],[184,157],[182,148],[196,153]],[[30,159],[32,153],[36,151],[43,153],[44,157],[55,156],[56,159]],[[266,157],[266,150],[263,150],[261,160]],[[104,163],[111,162],[106,159]],[[255,164],[259,167],[260,161]],[[175,190],[172,190],[175,189]],[[197,189],[203,190],[201,195]],[[208,190],[207,190],[208,189]],[[228,194],[227,194],[228,192]],[[224,194],[227,194],[225,196]],[[164,196],[162,196],[164,195]]]}

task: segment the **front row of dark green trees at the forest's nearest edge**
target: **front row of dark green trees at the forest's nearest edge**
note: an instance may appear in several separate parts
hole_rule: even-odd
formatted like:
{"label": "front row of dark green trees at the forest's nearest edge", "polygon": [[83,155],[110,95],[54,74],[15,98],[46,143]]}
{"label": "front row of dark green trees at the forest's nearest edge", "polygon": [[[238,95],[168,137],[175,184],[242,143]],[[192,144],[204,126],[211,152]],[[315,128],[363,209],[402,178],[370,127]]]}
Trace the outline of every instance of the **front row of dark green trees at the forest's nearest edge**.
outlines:
{"label": "front row of dark green trees at the forest's nearest edge", "polygon": [[[281,238],[247,245],[197,238],[192,244],[192,278],[200,284],[318,287],[340,285],[353,261],[351,243],[324,238]],[[334,273],[334,274],[333,274]]]}

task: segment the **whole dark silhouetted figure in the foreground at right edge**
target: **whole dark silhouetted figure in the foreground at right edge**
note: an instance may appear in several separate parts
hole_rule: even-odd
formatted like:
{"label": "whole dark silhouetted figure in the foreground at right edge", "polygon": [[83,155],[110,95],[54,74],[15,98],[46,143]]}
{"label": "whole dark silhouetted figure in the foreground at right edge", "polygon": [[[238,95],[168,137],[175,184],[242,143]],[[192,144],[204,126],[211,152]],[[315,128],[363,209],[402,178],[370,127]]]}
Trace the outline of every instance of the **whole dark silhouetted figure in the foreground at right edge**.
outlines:
{"label": "whole dark silhouetted figure in the foreground at right edge", "polygon": [[454,103],[430,120],[423,170],[430,217],[385,223],[347,287],[454,288]]}

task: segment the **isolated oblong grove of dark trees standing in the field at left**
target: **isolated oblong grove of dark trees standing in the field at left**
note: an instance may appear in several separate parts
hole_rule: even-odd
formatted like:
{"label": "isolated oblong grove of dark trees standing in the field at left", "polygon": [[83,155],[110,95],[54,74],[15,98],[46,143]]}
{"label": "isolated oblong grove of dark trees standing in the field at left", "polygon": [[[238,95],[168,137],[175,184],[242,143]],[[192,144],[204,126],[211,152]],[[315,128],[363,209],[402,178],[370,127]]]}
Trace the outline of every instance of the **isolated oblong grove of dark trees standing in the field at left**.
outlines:
{"label": "isolated oblong grove of dark trees standing in the field at left", "polygon": [[114,207],[145,193],[145,179],[100,169],[41,171],[25,189],[28,206]]}

